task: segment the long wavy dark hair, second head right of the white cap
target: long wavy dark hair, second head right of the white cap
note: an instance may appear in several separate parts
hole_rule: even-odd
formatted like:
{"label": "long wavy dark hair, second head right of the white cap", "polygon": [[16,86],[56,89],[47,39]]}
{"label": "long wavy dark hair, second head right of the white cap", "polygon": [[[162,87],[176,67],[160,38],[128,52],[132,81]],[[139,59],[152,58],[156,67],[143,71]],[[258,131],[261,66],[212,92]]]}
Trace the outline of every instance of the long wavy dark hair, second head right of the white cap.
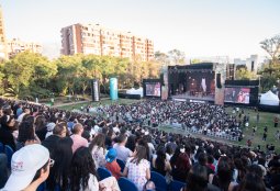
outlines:
{"label": "long wavy dark hair, second head right of the white cap", "polygon": [[78,148],[71,159],[70,166],[70,190],[86,190],[89,176],[97,177],[96,165],[88,147]]}

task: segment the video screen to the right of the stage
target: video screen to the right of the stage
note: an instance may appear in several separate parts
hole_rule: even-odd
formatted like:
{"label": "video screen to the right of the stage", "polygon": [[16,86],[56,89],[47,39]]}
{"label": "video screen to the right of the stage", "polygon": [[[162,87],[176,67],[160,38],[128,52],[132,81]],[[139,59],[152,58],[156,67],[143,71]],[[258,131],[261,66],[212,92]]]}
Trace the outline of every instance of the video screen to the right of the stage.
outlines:
{"label": "video screen to the right of the stage", "polygon": [[249,88],[225,88],[225,102],[249,104],[250,89]]}

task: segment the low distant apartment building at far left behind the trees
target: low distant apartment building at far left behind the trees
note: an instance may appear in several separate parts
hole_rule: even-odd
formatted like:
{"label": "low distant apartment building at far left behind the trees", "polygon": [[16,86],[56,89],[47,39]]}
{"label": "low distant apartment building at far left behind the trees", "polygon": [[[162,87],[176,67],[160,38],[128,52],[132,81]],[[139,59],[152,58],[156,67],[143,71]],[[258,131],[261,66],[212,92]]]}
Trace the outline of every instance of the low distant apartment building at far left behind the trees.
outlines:
{"label": "low distant apartment building at far left behind the trees", "polygon": [[32,53],[42,53],[42,45],[33,42],[23,42],[19,38],[13,38],[12,41],[8,41],[7,49],[9,58],[15,56],[16,54],[25,50],[30,50]]}

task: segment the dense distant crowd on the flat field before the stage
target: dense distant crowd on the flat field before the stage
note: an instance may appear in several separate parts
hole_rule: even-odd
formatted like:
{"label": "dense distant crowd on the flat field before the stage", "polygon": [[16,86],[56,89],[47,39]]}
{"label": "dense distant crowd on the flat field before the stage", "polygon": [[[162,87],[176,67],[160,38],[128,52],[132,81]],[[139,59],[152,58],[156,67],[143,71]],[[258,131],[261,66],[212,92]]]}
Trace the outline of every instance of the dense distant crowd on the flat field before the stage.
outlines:
{"label": "dense distant crowd on the flat field before the stage", "polygon": [[122,116],[125,122],[146,123],[148,126],[177,125],[193,132],[243,138],[243,115],[229,115],[221,105],[149,100],[101,106],[100,110],[111,120]]}

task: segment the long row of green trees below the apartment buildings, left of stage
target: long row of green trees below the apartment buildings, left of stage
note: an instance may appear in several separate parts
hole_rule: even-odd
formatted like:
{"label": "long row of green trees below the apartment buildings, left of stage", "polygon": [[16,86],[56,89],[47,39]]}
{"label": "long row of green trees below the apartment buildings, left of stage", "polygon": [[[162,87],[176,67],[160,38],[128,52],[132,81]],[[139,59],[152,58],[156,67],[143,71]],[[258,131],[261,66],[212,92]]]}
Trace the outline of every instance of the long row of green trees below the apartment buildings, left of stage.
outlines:
{"label": "long row of green trees below the apartment buildings, left of stage", "polygon": [[81,55],[55,60],[23,52],[0,64],[0,94],[18,98],[90,92],[90,80],[99,79],[108,92],[109,78],[117,77],[120,88],[132,88],[144,78],[158,78],[157,61],[130,61],[127,58]]}

